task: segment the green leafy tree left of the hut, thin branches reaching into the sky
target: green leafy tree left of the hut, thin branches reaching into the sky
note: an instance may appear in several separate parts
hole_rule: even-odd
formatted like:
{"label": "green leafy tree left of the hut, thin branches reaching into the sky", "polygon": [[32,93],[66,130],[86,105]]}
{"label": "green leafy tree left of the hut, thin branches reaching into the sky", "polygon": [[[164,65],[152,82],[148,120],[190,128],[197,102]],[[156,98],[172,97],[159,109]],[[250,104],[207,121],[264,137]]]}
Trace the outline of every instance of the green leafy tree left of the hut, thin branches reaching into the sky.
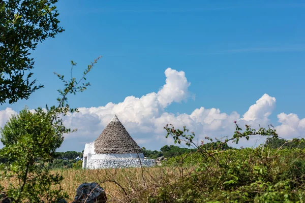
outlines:
{"label": "green leafy tree left of the hut, thin branches reaching into the sky", "polygon": [[[98,58],[99,59],[99,58]],[[65,89],[58,90],[58,105],[48,107],[43,110],[38,108],[35,115],[26,114],[25,134],[12,145],[7,145],[0,151],[0,159],[6,158],[10,164],[0,164],[2,171],[0,178],[14,179],[19,184],[10,184],[6,187],[6,194],[12,202],[58,202],[59,199],[67,197],[62,190],[60,181],[63,177],[59,174],[50,173],[47,167],[53,157],[50,151],[54,149],[58,138],[63,138],[66,133],[73,132],[63,124],[63,116],[68,113],[78,112],[77,109],[70,108],[68,95],[82,92],[89,86],[89,83],[82,83],[86,80],[85,76],[92,70],[96,59],[84,71],[80,80],[72,77],[66,81],[64,76],[56,74],[64,82]],[[50,122],[51,121],[51,122]],[[39,133],[36,128],[40,128]],[[38,162],[39,160],[39,162]],[[3,187],[0,190],[4,190]]]}

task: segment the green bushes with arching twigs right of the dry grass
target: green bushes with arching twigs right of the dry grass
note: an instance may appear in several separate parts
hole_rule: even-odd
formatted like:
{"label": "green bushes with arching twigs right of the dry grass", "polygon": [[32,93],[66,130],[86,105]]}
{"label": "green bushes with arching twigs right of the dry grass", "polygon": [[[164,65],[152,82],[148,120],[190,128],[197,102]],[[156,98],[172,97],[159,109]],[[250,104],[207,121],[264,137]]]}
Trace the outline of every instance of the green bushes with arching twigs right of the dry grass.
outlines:
{"label": "green bushes with arching twigs right of the dry grass", "polygon": [[[193,145],[194,134],[167,128],[176,142],[182,139],[195,146],[198,152],[169,158],[163,167],[177,168],[180,175],[167,176],[158,184],[147,187],[133,202],[304,202],[305,150],[298,148],[228,149],[220,141],[216,147]],[[236,125],[232,140],[249,139],[253,134],[277,138],[275,130],[258,131]],[[209,141],[211,139],[206,138]],[[189,170],[186,170],[188,168]],[[193,169],[193,170],[192,170]],[[184,172],[185,171],[185,172]]]}

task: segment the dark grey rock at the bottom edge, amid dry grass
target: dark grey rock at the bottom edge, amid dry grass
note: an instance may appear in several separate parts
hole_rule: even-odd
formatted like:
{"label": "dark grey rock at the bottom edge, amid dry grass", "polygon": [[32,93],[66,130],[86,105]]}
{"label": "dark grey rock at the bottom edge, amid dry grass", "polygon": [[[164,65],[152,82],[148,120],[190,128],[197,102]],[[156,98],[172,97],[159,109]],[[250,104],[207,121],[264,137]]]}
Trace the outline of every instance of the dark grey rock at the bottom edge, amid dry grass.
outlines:
{"label": "dark grey rock at the bottom edge, amid dry grass", "polygon": [[107,196],[105,190],[98,183],[82,183],[76,190],[72,203],[105,203]]}

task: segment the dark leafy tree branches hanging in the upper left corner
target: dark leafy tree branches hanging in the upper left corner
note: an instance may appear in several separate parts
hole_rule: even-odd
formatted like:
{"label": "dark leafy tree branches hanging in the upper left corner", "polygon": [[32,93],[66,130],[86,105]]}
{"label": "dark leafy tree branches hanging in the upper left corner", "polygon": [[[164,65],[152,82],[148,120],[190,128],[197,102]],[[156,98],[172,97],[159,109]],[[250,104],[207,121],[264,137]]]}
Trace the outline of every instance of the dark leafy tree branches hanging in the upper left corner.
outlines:
{"label": "dark leafy tree branches hanging in the upper left corner", "polygon": [[42,85],[31,81],[38,42],[64,31],[58,26],[57,0],[0,1],[0,105],[27,99]]}

